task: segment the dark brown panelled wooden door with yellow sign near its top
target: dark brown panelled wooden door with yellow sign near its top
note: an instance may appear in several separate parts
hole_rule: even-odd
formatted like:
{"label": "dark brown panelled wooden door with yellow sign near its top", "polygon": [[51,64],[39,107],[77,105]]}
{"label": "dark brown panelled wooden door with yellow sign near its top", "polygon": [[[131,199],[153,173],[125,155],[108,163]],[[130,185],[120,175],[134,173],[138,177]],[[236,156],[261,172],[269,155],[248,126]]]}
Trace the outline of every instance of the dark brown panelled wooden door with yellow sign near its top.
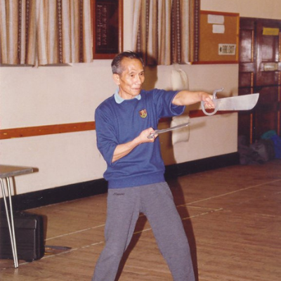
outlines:
{"label": "dark brown panelled wooden door with yellow sign near its top", "polygon": [[239,112],[238,135],[280,135],[281,20],[240,18],[239,95],[260,93],[250,112]]}

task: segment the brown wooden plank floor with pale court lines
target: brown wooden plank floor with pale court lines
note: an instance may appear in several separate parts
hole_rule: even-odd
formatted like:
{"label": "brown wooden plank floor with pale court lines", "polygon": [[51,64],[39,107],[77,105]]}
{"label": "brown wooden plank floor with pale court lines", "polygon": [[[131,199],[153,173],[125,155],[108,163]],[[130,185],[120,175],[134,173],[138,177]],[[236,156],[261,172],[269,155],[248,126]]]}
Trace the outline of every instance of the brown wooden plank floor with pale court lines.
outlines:
{"label": "brown wooden plank floor with pale court lines", "polygon": [[[281,160],[183,176],[169,185],[198,280],[281,280]],[[47,216],[47,246],[71,249],[20,261],[16,270],[13,261],[1,260],[0,280],[90,281],[104,246],[106,195],[28,211]],[[145,216],[122,268],[119,281],[172,280]]]}

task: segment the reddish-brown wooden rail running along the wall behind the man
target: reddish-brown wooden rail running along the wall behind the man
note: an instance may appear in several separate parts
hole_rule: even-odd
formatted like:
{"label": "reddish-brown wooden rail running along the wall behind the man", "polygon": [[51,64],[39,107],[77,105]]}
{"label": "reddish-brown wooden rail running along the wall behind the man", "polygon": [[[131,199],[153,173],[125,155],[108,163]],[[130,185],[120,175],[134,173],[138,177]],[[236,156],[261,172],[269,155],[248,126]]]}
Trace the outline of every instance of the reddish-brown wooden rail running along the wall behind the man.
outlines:
{"label": "reddish-brown wooden rail running along the wall behind the man", "polygon": [[[216,115],[226,114],[233,111],[217,112]],[[190,118],[204,117],[202,110],[192,110],[189,112]],[[166,118],[160,120],[160,122],[166,121]],[[78,131],[91,131],[96,129],[96,123],[92,122],[79,122],[71,124],[55,124],[46,126],[32,126],[25,128],[13,128],[0,130],[0,140],[6,140],[9,138],[25,138],[29,136],[44,136],[52,135],[55,133],[72,133]]]}

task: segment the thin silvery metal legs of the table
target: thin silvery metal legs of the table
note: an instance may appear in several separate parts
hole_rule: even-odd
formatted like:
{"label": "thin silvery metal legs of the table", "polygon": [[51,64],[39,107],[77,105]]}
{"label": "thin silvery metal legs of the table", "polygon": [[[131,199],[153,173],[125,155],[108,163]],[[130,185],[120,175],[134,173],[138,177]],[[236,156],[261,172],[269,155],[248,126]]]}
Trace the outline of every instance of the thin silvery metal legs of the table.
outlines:
{"label": "thin silvery metal legs of the table", "polygon": [[5,192],[5,187],[4,187],[2,178],[0,178],[0,183],[1,183],[4,204],[5,204],[7,221],[8,221],[8,230],[9,230],[10,238],[11,238],[11,246],[12,246],[12,251],[13,251],[13,262],[14,262],[15,268],[18,268],[18,253],[17,253],[16,242],[15,242],[15,226],[13,223],[13,206],[12,206],[12,197],[11,197],[10,178],[8,178],[8,177],[6,178],[7,189],[8,189],[8,199],[9,199],[9,204],[10,204],[10,214],[9,214],[9,210],[8,210],[6,192]]}

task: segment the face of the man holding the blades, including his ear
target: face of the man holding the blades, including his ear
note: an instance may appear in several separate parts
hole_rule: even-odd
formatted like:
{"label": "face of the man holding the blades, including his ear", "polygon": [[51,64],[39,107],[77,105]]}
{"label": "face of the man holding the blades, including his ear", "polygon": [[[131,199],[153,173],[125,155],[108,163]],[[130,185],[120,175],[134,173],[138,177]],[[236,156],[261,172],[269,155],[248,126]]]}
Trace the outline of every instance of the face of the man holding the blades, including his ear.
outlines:
{"label": "face of the man holding the blades, including his ear", "polygon": [[138,96],[141,92],[145,74],[140,60],[124,58],[122,74],[113,74],[115,83],[119,86],[119,95],[125,100]]}

